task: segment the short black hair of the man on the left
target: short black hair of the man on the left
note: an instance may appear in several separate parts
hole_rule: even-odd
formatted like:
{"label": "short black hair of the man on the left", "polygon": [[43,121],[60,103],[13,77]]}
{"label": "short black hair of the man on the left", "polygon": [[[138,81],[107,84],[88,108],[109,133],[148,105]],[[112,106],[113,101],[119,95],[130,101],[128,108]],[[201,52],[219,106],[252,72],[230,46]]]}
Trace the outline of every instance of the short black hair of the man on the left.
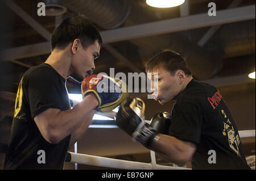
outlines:
{"label": "short black hair of the man on the left", "polygon": [[82,48],[94,44],[96,40],[102,46],[102,39],[97,28],[86,18],[85,15],[76,14],[67,16],[53,31],[51,36],[51,48],[64,49],[75,39],[80,39]]}

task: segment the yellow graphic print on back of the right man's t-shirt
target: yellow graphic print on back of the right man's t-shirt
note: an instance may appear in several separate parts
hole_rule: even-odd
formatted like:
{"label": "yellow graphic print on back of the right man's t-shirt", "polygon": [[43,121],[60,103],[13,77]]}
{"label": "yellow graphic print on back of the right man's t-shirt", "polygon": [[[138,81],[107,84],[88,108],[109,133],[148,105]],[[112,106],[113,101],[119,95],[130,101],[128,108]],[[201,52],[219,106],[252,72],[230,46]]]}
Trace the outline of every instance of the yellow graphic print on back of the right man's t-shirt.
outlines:
{"label": "yellow graphic print on back of the right man's t-shirt", "polygon": [[224,110],[221,110],[221,113],[224,115],[225,119],[227,119],[226,123],[224,123],[224,129],[222,134],[224,136],[228,135],[229,147],[236,152],[236,154],[240,157],[240,152],[238,145],[240,144],[240,138],[238,134],[235,136],[235,131],[232,123],[229,121],[228,117]]}

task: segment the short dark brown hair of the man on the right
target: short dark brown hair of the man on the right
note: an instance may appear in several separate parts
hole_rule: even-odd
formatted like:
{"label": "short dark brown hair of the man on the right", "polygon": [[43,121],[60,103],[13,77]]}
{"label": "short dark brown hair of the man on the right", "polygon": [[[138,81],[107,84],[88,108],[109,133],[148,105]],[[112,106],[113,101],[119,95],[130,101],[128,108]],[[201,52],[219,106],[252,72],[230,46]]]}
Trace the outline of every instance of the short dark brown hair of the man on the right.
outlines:
{"label": "short dark brown hair of the man on the right", "polygon": [[177,70],[183,70],[186,75],[191,75],[191,71],[184,58],[181,57],[179,53],[168,49],[163,50],[152,57],[145,65],[145,68],[146,71],[154,71],[158,68],[164,68],[172,75],[174,75]]}

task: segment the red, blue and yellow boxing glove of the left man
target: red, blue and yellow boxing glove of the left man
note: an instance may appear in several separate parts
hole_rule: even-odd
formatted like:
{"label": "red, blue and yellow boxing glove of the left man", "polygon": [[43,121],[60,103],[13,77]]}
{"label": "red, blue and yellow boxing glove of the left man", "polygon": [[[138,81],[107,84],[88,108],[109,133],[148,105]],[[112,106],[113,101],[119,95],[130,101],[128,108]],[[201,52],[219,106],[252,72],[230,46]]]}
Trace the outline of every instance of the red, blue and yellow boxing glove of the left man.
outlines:
{"label": "red, blue and yellow boxing glove of the left man", "polygon": [[92,92],[98,100],[96,110],[109,112],[127,98],[128,93],[126,87],[125,82],[120,79],[114,79],[107,75],[92,74],[85,77],[82,81],[82,98],[85,98],[86,95]]}

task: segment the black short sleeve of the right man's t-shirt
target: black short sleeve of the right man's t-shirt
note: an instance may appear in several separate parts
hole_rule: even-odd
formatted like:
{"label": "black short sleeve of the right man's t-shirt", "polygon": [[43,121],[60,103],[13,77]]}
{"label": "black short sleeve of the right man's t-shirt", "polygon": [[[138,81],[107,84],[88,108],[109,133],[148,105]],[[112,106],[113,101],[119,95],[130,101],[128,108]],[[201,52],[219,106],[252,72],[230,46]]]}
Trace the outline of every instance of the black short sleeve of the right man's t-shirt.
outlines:
{"label": "black short sleeve of the right man's t-shirt", "polygon": [[172,110],[169,135],[199,145],[202,125],[201,115],[201,106],[198,103],[177,103]]}

